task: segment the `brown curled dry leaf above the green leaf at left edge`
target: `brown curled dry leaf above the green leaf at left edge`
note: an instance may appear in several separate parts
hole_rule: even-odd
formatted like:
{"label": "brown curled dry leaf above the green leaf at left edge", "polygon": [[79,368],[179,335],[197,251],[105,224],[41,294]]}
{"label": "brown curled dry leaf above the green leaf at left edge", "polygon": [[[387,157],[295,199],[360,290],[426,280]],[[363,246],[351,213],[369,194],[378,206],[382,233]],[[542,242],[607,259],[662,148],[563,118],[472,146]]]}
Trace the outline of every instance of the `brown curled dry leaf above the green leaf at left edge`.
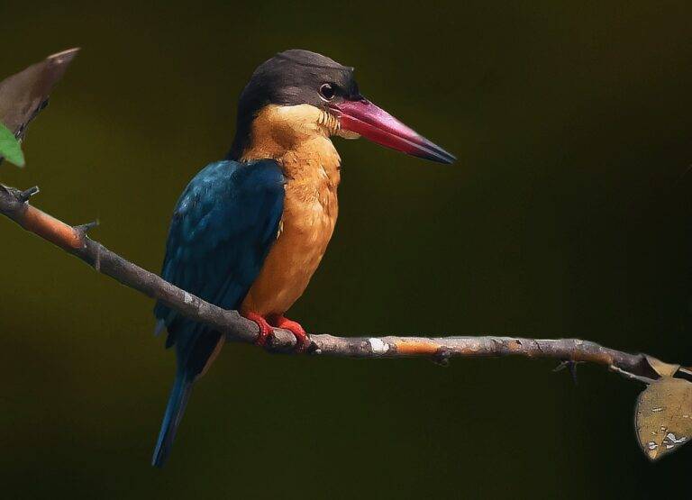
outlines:
{"label": "brown curled dry leaf above the green leaf at left edge", "polygon": [[13,132],[14,137],[21,141],[27,125],[48,104],[50,91],[78,50],[53,54],[0,82],[0,122]]}

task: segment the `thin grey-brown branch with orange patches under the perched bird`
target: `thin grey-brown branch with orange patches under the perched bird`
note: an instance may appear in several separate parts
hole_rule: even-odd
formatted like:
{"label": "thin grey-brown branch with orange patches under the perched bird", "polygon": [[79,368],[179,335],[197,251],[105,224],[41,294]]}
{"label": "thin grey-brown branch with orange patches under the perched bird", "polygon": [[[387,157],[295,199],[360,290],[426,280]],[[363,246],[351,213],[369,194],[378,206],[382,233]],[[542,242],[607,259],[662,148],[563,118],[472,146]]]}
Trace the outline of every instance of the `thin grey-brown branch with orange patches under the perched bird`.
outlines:
{"label": "thin grey-brown branch with orange patches under the perched bird", "polygon": [[[259,335],[256,323],[236,311],[226,311],[173,286],[161,277],[140,268],[87,236],[96,223],[72,227],[29,205],[28,199],[38,188],[20,191],[0,185],[0,214],[12,219],[26,231],[68,251],[78,259],[120,283],[158,299],[180,314],[223,332],[228,341],[254,342]],[[609,349],[595,342],[578,339],[540,340],[519,337],[339,337],[310,335],[308,354],[344,358],[428,357],[445,364],[452,357],[504,357],[559,359],[569,363],[591,362],[605,365],[618,373],[658,378],[643,354]],[[266,348],[295,352],[296,338],[291,332],[274,329]]]}

